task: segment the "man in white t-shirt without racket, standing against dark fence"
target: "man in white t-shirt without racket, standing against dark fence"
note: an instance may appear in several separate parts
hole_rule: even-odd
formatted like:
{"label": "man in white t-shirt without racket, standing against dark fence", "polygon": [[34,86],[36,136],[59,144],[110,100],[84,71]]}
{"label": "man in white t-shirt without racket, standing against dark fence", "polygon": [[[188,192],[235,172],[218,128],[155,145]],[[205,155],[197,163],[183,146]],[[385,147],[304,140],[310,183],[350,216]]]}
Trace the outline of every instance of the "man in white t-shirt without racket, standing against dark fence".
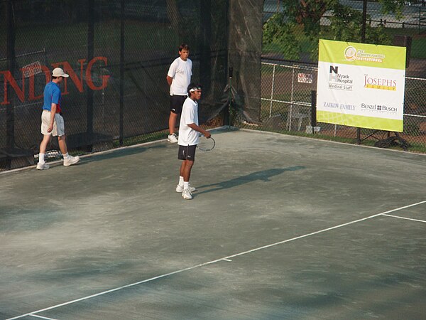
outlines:
{"label": "man in white t-shirt without racket, standing against dark fence", "polygon": [[192,76],[192,61],[188,58],[190,47],[182,43],[179,47],[179,57],[170,65],[167,73],[167,82],[170,85],[170,117],[169,136],[171,143],[178,142],[175,134],[176,119],[182,112],[182,105],[187,98],[187,87],[190,85]]}

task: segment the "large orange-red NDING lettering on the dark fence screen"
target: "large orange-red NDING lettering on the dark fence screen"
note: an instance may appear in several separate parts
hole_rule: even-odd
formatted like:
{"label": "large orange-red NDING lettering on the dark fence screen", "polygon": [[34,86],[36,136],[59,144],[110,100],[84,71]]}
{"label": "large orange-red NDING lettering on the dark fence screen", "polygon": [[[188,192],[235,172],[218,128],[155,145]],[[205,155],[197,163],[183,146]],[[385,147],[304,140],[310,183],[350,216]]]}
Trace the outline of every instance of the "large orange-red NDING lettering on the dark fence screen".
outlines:
{"label": "large orange-red NDING lettering on the dark fence screen", "polygon": [[[0,71],[0,82],[4,82],[4,90],[3,90],[3,97],[0,97],[0,105],[9,105],[10,101],[8,100],[9,90],[13,90],[13,92],[16,93],[16,96],[21,102],[25,101],[34,101],[34,100],[40,100],[43,99],[43,91],[41,92],[35,92],[35,74],[36,73],[44,73],[46,83],[50,81],[50,73],[51,70],[54,68],[62,68],[65,73],[70,75],[70,78],[65,79],[64,84],[64,91],[62,92],[62,95],[67,95],[68,90],[67,86],[69,85],[68,81],[72,81],[74,83],[75,87],[79,92],[84,92],[84,85],[83,82],[85,80],[87,87],[91,90],[102,90],[108,85],[109,75],[97,75],[97,77],[100,78],[101,82],[100,85],[96,85],[94,83],[94,73],[92,70],[94,69],[94,66],[98,66],[99,64],[102,65],[102,67],[106,67],[108,63],[108,59],[105,57],[94,57],[92,60],[90,60],[87,65],[86,59],[80,59],[77,61],[79,63],[79,70],[77,72],[71,67],[70,63],[68,61],[62,61],[58,63],[52,63],[52,68],[48,68],[45,65],[29,65],[27,68],[21,68],[21,87],[18,85],[18,82],[15,78],[13,78],[12,73],[9,70]],[[85,67],[85,69],[84,69]],[[28,70],[28,68],[31,68]],[[37,69],[37,70],[35,70]],[[1,79],[3,78],[3,79]],[[26,78],[28,78],[28,81],[26,81]],[[98,82],[98,81],[97,81]],[[9,85],[8,85],[9,84]]]}

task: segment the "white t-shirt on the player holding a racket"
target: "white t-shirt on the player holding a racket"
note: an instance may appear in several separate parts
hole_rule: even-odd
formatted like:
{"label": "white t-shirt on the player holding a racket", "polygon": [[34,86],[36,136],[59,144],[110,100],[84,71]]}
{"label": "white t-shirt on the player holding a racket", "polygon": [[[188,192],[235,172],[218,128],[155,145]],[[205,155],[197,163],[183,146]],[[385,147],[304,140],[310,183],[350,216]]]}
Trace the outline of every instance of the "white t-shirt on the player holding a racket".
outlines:
{"label": "white t-shirt on the player holding a racket", "polygon": [[199,133],[188,127],[188,124],[198,125],[198,103],[186,98],[183,102],[182,113],[180,114],[178,144],[180,146],[194,146],[200,140]]}

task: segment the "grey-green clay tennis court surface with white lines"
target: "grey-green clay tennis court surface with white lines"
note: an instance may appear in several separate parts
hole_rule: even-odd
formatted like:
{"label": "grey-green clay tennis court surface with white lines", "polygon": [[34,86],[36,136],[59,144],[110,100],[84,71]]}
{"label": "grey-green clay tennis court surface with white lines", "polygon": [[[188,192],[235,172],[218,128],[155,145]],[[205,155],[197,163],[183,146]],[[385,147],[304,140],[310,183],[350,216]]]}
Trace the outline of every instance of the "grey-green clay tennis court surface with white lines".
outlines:
{"label": "grey-green clay tennis court surface with white lines", "polygon": [[0,174],[0,319],[424,319],[425,155],[212,137]]}

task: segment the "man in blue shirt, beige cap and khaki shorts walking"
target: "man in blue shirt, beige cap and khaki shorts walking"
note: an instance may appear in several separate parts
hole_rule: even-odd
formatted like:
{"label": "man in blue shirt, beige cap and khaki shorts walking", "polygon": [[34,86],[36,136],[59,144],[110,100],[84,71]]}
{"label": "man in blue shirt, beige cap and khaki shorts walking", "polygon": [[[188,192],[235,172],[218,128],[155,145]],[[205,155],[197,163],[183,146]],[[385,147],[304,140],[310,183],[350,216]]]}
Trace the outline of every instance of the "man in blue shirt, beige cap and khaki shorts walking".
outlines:
{"label": "man in blue shirt, beige cap and khaki shorts walking", "polygon": [[45,86],[43,113],[41,114],[43,140],[40,144],[40,154],[38,154],[38,170],[49,169],[48,164],[45,163],[45,152],[52,136],[58,137],[59,149],[64,157],[64,166],[71,166],[80,161],[78,156],[68,154],[67,144],[65,143],[65,125],[61,115],[59,85],[64,78],[68,77],[69,75],[64,73],[64,70],[55,68],[52,72],[52,81]]}

